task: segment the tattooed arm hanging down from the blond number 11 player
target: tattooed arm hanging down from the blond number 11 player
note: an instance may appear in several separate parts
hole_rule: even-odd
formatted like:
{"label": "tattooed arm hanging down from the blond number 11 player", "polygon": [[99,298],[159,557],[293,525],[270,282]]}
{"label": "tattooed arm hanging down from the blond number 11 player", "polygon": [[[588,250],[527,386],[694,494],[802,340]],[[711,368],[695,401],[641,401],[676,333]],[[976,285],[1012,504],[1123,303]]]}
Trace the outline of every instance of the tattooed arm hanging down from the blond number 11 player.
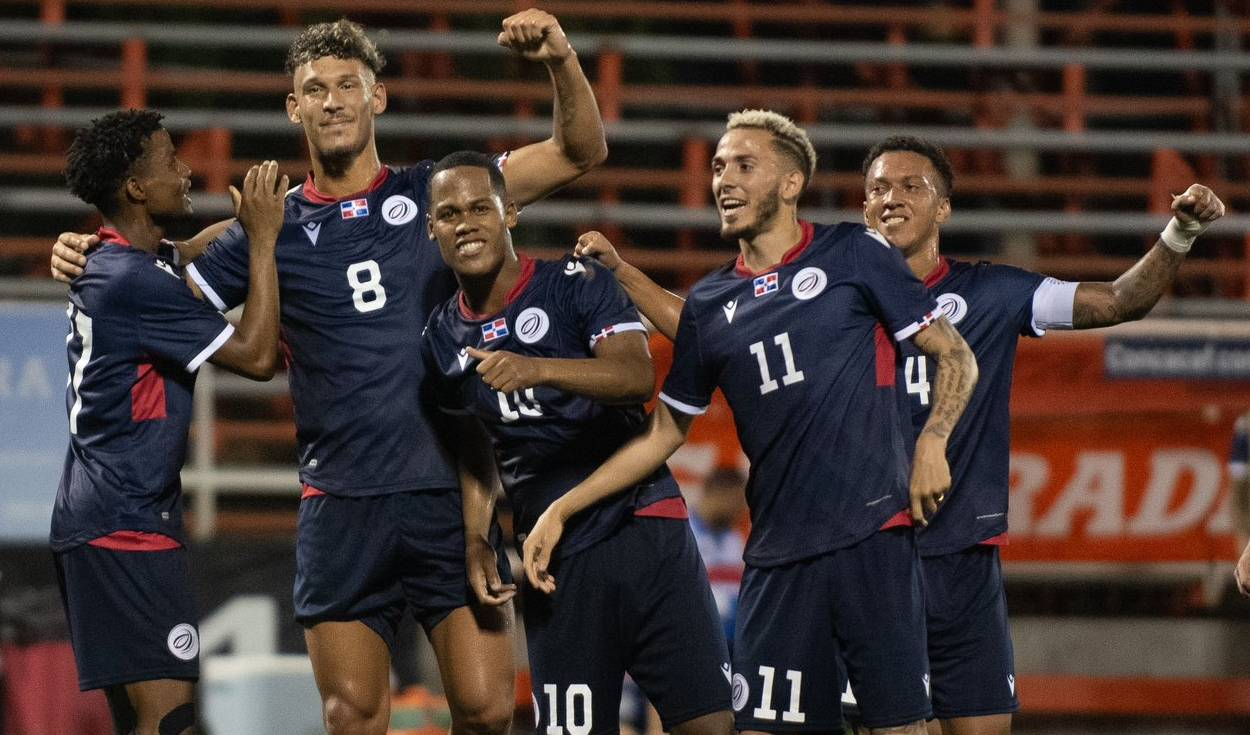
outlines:
{"label": "tattooed arm hanging down from the blond number 11 player", "polygon": [[976,388],[976,358],[945,316],[911,339],[938,362],[932,409],[916,438],[911,465],[911,520],[928,525],[926,516],[936,512],[950,489],[946,442]]}

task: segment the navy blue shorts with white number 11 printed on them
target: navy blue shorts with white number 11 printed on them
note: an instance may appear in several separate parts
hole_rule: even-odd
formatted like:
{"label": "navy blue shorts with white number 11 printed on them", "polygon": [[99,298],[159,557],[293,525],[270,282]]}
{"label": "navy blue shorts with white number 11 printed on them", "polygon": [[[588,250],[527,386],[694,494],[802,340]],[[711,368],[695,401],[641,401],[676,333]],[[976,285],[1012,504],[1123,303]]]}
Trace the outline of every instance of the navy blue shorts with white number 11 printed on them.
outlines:
{"label": "navy blue shorts with white number 11 printed on them", "polygon": [[841,731],[848,679],[869,728],[929,716],[911,529],[781,566],[746,566],[734,638],[738,729]]}

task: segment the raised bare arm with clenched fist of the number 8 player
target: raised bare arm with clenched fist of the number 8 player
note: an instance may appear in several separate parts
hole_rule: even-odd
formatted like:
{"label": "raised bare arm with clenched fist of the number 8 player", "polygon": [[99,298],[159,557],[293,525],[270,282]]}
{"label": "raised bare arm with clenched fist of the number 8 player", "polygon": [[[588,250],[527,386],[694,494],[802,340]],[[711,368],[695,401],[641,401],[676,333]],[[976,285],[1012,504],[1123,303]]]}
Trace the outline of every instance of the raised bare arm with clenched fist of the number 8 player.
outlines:
{"label": "raised bare arm with clenched fist of the number 8 player", "polygon": [[531,8],[506,18],[499,45],[545,64],[555,90],[551,138],[512,151],[504,166],[508,192],[524,206],[601,164],[608,140],[595,92],[554,15]]}

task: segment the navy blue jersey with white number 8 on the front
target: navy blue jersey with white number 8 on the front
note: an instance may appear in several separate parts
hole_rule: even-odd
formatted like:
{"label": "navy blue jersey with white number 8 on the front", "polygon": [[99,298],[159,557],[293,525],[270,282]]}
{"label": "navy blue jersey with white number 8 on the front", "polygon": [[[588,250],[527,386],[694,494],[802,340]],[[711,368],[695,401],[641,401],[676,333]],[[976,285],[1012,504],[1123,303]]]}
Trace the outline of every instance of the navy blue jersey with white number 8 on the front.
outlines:
{"label": "navy blue jersey with white number 8 on the front", "polygon": [[[329,199],[311,178],[286,198],[278,238],[300,479],[335,495],[455,488],[418,400],[420,326],[455,290],[429,239],[432,164],[382,168],[368,191]],[[248,238],[238,224],[189,266],[219,308],[242,302]]]}

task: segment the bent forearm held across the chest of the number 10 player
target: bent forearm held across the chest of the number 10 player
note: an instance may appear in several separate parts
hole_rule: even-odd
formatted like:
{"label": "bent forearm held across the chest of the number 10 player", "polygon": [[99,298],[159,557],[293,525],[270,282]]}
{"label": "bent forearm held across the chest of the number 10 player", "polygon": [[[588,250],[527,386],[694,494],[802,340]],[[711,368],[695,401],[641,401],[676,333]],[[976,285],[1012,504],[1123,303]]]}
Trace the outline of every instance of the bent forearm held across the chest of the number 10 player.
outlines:
{"label": "bent forearm held across the chest of the number 10 player", "polygon": [[640,404],[655,390],[655,368],[644,331],[601,339],[594,358],[530,358],[476,348],[468,351],[480,360],[476,370],[482,381],[501,392],[546,385],[604,404]]}

